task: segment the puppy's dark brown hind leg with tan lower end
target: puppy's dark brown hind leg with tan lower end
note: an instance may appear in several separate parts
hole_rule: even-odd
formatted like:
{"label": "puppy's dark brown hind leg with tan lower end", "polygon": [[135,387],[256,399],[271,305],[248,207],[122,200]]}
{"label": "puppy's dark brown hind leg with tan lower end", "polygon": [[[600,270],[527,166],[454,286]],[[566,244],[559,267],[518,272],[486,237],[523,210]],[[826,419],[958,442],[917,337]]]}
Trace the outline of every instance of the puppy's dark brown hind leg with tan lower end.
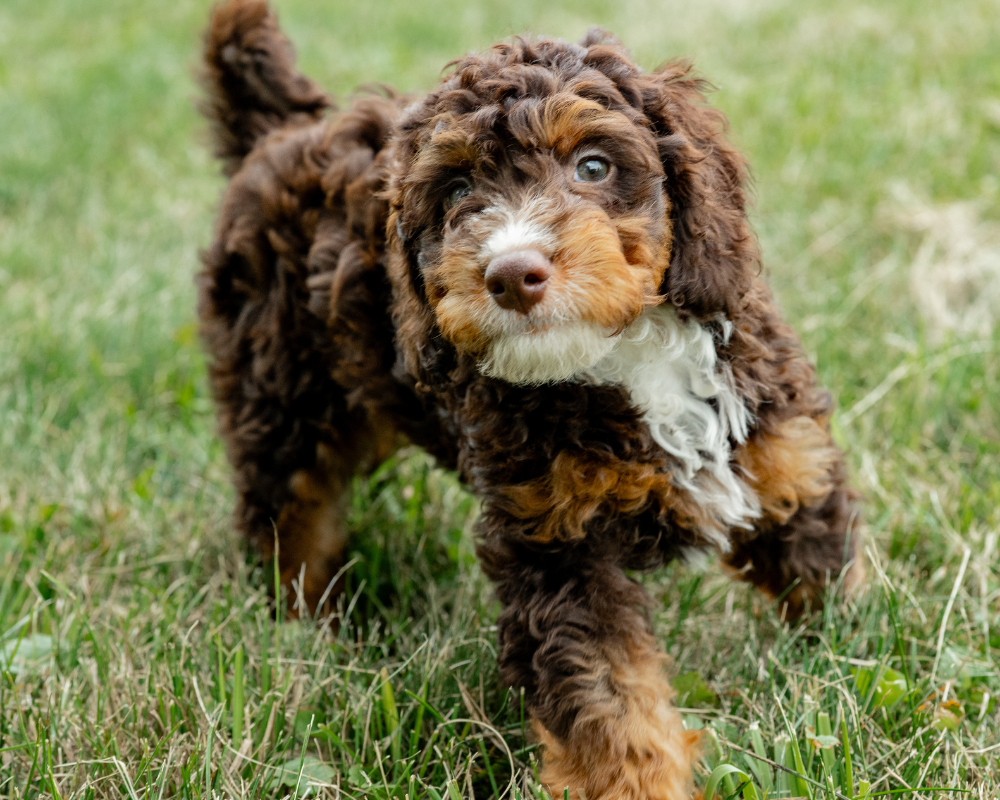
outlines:
{"label": "puppy's dark brown hind leg with tan lower end", "polygon": [[378,435],[350,408],[316,343],[324,335],[285,259],[258,285],[246,259],[213,248],[202,275],[202,332],[220,432],[237,492],[236,523],[265,561],[278,548],[281,581],[310,610],[343,561],[342,506],[354,473],[384,457]]}

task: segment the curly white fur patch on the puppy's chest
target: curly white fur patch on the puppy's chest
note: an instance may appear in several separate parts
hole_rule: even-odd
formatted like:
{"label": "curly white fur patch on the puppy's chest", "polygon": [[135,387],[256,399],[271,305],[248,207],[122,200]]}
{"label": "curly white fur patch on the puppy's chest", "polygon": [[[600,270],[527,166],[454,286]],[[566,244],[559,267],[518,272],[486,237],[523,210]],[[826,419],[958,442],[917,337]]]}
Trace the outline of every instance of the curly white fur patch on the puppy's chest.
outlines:
{"label": "curly white fur patch on the puppy's chest", "polygon": [[712,334],[695,320],[682,322],[673,307],[656,306],[581,377],[628,390],[653,439],[677,459],[676,484],[718,520],[702,533],[728,550],[726,529],[749,528],[760,502],[730,465],[730,440],[746,441],[751,418]]}

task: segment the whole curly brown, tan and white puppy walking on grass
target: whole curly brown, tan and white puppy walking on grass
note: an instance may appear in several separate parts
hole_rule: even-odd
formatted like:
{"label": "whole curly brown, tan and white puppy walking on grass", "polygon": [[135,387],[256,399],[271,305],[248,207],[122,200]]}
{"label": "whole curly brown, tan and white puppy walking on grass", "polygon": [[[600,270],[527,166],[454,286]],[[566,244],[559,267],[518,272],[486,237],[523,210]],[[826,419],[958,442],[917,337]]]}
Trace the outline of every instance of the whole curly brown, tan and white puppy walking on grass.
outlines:
{"label": "whole curly brown, tan and white puppy walking on grass", "polygon": [[789,614],[859,573],[830,399],[705,84],[595,30],[333,111],[263,0],[229,0],[204,85],[231,180],[200,315],[240,529],[315,610],[352,476],[426,448],[482,502],[552,795],[687,798],[696,736],[628,571],[714,551]]}

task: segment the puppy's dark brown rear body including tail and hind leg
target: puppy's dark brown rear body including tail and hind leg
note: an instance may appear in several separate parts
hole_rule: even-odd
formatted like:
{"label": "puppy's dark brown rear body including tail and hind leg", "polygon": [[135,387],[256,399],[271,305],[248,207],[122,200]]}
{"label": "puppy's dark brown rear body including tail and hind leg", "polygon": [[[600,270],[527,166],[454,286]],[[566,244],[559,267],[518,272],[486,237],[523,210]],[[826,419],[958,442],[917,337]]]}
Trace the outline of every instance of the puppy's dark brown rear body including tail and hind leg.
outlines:
{"label": "puppy's dark brown rear body including tail and hind leg", "polygon": [[[336,498],[424,422],[395,362],[384,147],[402,99],[331,99],[263,0],[217,7],[203,84],[230,183],[199,276],[201,331],[234,467],[237,524],[316,608],[341,564]],[[440,437],[438,437],[440,439]],[[300,575],[300,565],[309,572]]]}

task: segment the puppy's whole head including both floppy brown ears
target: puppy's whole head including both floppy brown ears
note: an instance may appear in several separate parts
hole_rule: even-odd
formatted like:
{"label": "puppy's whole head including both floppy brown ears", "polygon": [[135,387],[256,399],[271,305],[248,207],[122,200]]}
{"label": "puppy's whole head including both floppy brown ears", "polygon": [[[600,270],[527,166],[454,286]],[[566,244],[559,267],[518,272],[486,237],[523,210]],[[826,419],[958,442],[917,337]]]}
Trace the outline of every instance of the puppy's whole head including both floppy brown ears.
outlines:
{"label": "puppy's whole head including both floppy brown ears", "polygon": [[686,64],[645,74],[601,32],[457,62],[394,145],[407,367],[457,351],[512,383],[562,381],[645,307],[732,316],[756,247],[743,161],[702,91]]}

